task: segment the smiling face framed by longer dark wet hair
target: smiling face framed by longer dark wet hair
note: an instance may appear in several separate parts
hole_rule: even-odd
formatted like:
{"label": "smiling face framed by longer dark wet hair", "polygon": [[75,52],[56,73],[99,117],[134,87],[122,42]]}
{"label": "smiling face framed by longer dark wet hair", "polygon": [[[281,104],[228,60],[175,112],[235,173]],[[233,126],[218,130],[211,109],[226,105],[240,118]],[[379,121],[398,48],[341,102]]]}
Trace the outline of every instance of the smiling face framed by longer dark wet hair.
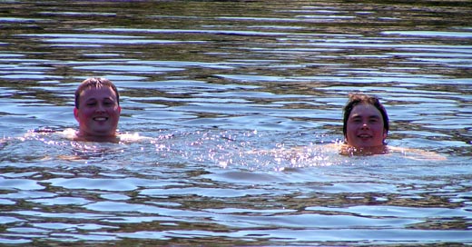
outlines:
{"label": "smiling face framed by longer dark wet hair", "polygon": [[383,145],[387,130],[380,111],[372,104],[357,104],[349,114],[346,141],[356,148]]}

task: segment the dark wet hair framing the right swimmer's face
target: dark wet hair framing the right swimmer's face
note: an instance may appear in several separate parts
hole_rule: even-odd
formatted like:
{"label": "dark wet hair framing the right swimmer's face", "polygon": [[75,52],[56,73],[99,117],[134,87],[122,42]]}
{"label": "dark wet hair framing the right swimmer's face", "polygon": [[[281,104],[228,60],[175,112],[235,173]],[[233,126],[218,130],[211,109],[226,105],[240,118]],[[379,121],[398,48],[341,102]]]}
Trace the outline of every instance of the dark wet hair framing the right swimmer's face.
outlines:
{"label": "dark wet hair framing the right swimmer's face", "polygon": [[342,133],[344,136],[348,133],[348,119],[350,112],[354,109],[354,106],[358,104],[372,104],[377,108],[382,114],[382,119],[384,122],[384,129],[388,132],[388,114],[385,107],[380,103],[379,98],[376,96],[370,96],[367,94],[349,94],[349,101],[346,106],[344,106],[344,119],[342,125]]}

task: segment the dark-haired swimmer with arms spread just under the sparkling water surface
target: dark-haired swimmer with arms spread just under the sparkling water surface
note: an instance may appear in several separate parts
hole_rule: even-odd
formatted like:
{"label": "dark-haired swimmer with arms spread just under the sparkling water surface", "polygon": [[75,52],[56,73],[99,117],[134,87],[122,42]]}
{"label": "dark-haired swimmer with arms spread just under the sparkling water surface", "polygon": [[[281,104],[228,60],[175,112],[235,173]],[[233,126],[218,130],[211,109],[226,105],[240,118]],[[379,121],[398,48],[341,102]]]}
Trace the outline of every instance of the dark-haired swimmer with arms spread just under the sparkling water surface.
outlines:
{"label": "dark-haired swimmer with arms spread just under the sparkling water surface", "polygon": [[[325,155],[339,153],[348,156],[374,154],[401,154],[400,157],[418,161],[442,161],[446,157],[434,152],[418,149],[388,146],[389,122],[385,107],[379,98],[366,94],[349,94],[348,104],[344,107],[343,143],[330,143],[313,146],[295,146],[283,149],[256,150],[250,154],[273,155],[289,159],[292,163],[318,163],[325,161]],[[310,160],[310,157],[313,157]],[[332,158],[332,157],[331,157]],[[331,158],[326,163],[331,162]]]}

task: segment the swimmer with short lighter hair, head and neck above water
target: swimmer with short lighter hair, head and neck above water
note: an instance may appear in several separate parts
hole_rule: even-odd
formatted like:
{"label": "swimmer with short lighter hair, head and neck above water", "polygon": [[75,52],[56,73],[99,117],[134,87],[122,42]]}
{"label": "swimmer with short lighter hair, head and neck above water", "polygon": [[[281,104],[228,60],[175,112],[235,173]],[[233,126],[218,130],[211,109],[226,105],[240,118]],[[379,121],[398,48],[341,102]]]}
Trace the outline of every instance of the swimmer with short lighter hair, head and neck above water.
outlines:
{"label": "swimmer with short lighter hair, head and neck above water", "polygon": [[74,117],[79,130],[64,131],[76,141],[117,142],[122,108],[116,86],[105,78],[88,78],[75,91]]}

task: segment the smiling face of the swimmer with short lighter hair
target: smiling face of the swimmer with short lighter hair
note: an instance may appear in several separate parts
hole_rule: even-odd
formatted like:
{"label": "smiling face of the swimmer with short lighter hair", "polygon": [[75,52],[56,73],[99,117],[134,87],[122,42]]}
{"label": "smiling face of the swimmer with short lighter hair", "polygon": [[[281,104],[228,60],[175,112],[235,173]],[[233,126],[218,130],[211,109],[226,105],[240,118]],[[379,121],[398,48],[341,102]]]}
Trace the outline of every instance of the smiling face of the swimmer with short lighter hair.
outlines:
{"label": "smiling face of the swimmer with short lighter hair", "polygon": [[88,88],[80,94],[79,108],[74,116],[79,133],[85,136],[113,136],[116,133],[121,107],[112,88]]}

